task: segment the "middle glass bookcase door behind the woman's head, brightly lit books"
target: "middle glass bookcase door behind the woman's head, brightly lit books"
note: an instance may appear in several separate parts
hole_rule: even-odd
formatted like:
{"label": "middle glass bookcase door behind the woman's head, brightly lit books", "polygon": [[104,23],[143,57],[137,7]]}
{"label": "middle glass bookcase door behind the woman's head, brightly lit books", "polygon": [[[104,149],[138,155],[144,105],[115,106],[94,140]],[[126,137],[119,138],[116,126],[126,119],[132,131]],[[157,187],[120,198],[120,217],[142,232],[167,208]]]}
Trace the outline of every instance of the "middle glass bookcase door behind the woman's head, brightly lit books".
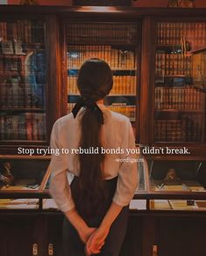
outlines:
{"label": "middle glass bookcase door behind the woman's head, brightly lit books", "polygon": [[113,88],[104,105],[128,116],[135,127],[137,95],[138,25],[121,22],[67,22],[67,110],[71,112],[79,91],[78,70],[89,58],[108,62]]}

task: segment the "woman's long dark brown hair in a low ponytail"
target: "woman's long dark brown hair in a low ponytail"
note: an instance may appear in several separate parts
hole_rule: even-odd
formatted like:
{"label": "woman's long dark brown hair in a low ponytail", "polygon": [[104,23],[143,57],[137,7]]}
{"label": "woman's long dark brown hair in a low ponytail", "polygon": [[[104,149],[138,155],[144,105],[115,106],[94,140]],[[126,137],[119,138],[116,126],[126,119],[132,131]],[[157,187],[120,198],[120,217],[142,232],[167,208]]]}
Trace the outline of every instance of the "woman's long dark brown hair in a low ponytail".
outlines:
{"label": "woman's long dark brown hair in a low ponytail", "polygon": [[[82,64],[77,78],[77,86],[85,101],[96,102],[109,94],[113,85],[112,71],[107,62],[89,59]],[[75,186],[75,204],[80,214],[89,216],[101,210],[105,200],[102,168],[104,155],[101,154],[102,122],[93,108],[85,107],[81,117],[82,149],[98,149],[99,154],[80,154],[80,176]],[[91,148],[90,148],[91,149]]]}

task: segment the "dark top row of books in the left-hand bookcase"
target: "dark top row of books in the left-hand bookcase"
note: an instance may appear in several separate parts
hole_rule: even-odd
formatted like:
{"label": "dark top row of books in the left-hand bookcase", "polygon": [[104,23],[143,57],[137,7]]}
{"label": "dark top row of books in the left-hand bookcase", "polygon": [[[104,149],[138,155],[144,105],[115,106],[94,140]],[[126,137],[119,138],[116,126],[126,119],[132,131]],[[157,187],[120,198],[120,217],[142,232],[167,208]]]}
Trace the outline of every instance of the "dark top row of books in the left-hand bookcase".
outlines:
{"label": "dark top row of books in the left-hand bookcase", "polygon": [[45,42],[45,22],[41,20],[18,19],[0,22],[0,37],[3,40],[20,40],[27,43]]}

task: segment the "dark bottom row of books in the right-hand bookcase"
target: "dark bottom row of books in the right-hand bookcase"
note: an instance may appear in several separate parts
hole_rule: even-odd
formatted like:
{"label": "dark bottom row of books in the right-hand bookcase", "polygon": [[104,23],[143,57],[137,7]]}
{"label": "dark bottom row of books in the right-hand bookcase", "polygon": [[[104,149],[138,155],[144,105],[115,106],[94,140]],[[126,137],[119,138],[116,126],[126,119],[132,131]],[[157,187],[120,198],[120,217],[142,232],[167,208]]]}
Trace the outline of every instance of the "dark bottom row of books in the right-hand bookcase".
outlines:
{"label": "dark bottom row of books in the right-hand bookcase", "polygon": [[202,142],[202,121],[198,116],[181,120],[154,121],[155,142]]}

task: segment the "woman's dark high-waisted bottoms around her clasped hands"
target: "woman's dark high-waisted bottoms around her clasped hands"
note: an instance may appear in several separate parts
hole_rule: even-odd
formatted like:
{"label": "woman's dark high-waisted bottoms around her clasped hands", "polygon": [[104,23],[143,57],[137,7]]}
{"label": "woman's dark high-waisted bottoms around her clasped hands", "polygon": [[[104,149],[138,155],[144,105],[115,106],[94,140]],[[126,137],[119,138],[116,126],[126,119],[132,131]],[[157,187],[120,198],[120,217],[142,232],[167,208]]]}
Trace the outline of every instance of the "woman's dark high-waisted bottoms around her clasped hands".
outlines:
{"label": "woman's dark high-waisted bottoms around her clasped hands", "polygon": [[[117,187],[117,178],[104,180],[105,188],[110,190],[110,203],[112,201],[114,192]],[[72,186],[71,186],[72,189]],[[110,207],[110,204],[105,204],[105,213]],[[104,213],[104,214],[105,214]],[[103,220],[103,215],[94,216],[90,218],[84,218],[84,221],[89,225],[89,227],[98,227]],[[124,236],[127,228],[129,214],[129,206],[122,209],[120,214],[117,216],[114,223],[110,227],[110,232],[105,240],[105,244],[99,254],[99,256],[118,256],[121,245],[124,241]],[[62,233],[62,246],[60,256],[85,256],[84,252],[85,245],[75,230],[74,226],[69,223],[67,218],[64,218],[63,222],[63,233]]]}

